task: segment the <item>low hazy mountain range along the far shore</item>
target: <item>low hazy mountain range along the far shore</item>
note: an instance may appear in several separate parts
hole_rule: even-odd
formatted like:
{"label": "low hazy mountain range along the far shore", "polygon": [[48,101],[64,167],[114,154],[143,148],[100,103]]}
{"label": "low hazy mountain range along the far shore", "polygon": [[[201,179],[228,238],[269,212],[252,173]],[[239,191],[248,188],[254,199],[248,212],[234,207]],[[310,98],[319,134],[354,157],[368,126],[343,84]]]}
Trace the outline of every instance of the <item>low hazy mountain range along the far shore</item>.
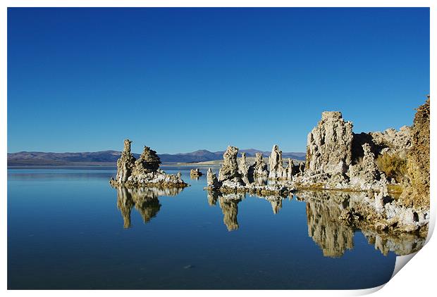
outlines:
{"label": "low hazy mountain range along the far shore", "polygon": [[[269,151],[259,151],[254,148],[242,149],[247,157],[255,156],[255,153],[262,153],[264,157],[270,156]],[[159,154],[162,163],[195,163],[211,160],[221,160],[224,151],[211,152],[207,150],[193,151],[192,153],[163,153]],[[8,166],[78,166],[78,165],[105,165],[115,166],[120,158],[120,151],[96,151],[90,153],[43,153],[35,151],[20,151],[8,153]],[[135,158],[140,154],[134,153]],[[304,160],[305,153],[283,153],[283,158]]]}

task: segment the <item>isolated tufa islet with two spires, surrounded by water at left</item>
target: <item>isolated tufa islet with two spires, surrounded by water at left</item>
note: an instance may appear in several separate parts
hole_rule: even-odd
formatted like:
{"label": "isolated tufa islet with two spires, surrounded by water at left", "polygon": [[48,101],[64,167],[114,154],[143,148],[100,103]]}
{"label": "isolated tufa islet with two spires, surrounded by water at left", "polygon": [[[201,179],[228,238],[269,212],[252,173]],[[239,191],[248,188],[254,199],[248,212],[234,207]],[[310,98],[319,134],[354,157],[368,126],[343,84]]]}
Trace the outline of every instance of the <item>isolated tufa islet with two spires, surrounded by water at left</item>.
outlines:
{"label": "isolated tufa islet with two spires, surrounded by water at left", "polygon": [[111,179],[113,187],[187,187],[178,175],[168,175],[159,169],[161,160],[149,146],[144,146],[140,158],[135,160],[130,152],[132,141],[125,139],[121,157],[117,160],[116,179]]}

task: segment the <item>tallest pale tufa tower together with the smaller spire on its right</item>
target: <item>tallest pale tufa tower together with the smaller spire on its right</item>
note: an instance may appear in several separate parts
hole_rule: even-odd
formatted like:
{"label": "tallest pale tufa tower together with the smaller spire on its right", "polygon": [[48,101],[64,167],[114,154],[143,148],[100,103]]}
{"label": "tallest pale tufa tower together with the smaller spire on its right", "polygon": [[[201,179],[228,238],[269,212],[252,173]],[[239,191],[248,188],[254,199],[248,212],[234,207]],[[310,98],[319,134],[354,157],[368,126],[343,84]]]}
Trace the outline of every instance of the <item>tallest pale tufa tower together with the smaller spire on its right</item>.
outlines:
{"label": "tallest pale tufa tower together with the smaller spire on its right", "polygon": [[372,151],[377,141],[371,141],[371,134],[355,137],[352,127],[338,111],[322,113],[321,121],[308,134],[306,168],[295,184],[357,191],[379,191],[386,185],[386,176],[378,169]]}

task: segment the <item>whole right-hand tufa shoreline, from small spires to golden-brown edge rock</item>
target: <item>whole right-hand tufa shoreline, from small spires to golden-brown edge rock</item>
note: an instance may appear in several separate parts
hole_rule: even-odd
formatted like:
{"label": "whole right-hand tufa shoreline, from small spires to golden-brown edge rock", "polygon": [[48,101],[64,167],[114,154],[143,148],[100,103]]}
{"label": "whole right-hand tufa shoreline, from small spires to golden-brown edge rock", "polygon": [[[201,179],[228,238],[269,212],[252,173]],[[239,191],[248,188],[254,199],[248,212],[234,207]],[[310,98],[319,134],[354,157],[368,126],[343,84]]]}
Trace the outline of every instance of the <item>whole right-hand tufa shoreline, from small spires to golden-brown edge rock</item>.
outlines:
{"label": "whole right-hand tufa shoreline, from small spires to golden-brown edge rock", "polygon": [[[344,222],[366,221],[376,229],[426,234],[429,222],[429,98],[417,108],[412,127],[399,131],[355,134],[352,122],[338,111],[322,113],[307,137],[306,163],[283,165],[282,151],[273,146],[269,167],[261,154],[253,165],[245,153],[228,146],[217,178],[208,170],[207,189],[221,193],[249,192],[259,196],[285,196],[297,189],[328,189],[366,193],[355,208],[339,215]],[[388,177],[378,165],[381,156],[407,163],[405,178]],[[269,183],[257,183],[257,177]],[[406,182],[405,182],[406,181]],[[393,189],[401,189],[393,199]]]}

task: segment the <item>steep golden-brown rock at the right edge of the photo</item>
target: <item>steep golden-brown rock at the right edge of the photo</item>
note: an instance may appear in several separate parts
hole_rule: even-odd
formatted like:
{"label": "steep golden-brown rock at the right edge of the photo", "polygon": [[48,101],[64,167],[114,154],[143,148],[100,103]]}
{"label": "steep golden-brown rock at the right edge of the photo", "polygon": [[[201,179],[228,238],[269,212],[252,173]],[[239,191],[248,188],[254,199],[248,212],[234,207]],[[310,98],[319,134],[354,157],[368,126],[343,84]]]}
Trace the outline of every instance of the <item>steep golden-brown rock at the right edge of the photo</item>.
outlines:
{"label": "steep golden-brown rock at the right edge of the photo", "polygon": [[407,177],[402,203],[429,209],[429,115],[430,99],[417,108],[411,131],[412,146],[407,153]]}

